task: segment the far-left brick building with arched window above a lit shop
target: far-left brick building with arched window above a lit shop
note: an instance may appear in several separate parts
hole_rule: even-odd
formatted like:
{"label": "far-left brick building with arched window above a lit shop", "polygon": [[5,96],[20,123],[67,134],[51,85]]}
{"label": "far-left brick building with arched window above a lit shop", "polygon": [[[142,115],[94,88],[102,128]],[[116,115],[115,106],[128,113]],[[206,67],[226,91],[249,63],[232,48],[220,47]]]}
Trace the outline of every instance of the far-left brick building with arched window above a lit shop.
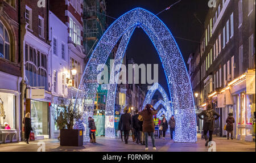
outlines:
{"label": "far-left brick building with arched window above a lit shop", "polygon": [[0,0],[0,126],[6,122],[11,127],[9,135],[2,135],[0,128],[0,143],[20,140],[19,84],[22,75],[18,6],[18,0]]}

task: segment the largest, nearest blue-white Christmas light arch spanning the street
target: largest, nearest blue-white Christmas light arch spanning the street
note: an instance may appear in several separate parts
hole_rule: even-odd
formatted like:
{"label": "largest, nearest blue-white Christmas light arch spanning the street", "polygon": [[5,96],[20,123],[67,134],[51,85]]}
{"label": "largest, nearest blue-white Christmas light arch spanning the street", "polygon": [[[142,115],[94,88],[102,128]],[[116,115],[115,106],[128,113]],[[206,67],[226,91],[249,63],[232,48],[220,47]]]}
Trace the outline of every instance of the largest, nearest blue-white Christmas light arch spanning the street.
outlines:
{"label": "largest, nearest blue-white Christmas light arch spanning the street", "polygon": [[[97,76],[103,71],[104,67],[98,68],[98,66],[106,63],[119,38],[129,33],[129,30],[133,31],[131,28],[136,26],[142,27],[150,37],[162,61],[176,119],[175,141],[196,142],[196,117],[193,95],[181,52],[166,25],[157,16],[143,8],[135,8],[120,16],[110,25],[96,45],[85,67],[79,91],[77,92],[77,99],[82,99],[80,101],[83,101],[82,109],[86,113],[85,115],[89,116],[93,113],[94,99],[98,87]],[[130,37],[122,37],[122,39],[125,39],[125,42],[129,42]],[[122,46],[125,46],[125,48],[122,48]],[[122,46],[119,45],[119,48],[126,49],[127,44]],[[109,91],[112,92],[113,90]],[[75,107],[76,105],[75,103]],[[113,109],[105,112],[110,128],[114,126]],[[88,135],[89,132],[86,130],[86,138],[88,138]]]}

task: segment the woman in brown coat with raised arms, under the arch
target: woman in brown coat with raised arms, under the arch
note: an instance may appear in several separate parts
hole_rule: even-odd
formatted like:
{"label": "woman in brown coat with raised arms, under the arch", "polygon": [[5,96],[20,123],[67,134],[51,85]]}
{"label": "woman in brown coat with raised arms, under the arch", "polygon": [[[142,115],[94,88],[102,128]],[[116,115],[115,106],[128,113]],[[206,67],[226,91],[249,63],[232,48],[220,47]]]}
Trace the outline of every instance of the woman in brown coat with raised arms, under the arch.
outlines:
{"label": "woman in brown coat with raised arms, under the arch", "polygon": [[154,138],[154,131],[155,131],[155,125],[153,121],[153,115],[158,113],[152,105],[147,104],[143,111],[139,113],[139,115],[142,115],[143,117],[143,131],[145,134],[145,142],[146,142],[146,150],[148,150],[148,135],[151,136],[153,149],[155,150],[155,138]]}

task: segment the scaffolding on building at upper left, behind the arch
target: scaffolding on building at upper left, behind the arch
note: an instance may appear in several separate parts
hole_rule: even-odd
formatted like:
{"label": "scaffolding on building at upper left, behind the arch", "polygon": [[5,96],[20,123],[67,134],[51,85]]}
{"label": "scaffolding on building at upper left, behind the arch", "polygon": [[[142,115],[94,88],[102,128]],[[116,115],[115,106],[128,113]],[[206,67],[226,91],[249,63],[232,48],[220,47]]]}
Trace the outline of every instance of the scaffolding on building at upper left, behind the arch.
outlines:
{"label": "scaffolding on building at upper left, behind the arch", "polygon": [[84,48],[89,59],[98,40],[106,31],[105,0],[84,0]]}

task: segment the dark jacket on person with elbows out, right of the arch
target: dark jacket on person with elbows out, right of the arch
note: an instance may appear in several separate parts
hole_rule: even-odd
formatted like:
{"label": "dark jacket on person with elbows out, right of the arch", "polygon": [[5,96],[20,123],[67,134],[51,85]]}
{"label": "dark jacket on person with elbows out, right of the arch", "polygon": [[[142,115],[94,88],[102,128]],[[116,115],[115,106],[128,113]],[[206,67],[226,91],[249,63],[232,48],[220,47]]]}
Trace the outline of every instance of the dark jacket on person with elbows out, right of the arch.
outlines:
{"label": "dark jacket on person with elbows out, right of the arch", "polygon": [[[204,115],[204,118],[201,116]],[[214,115],[216,115],[216,118],[214,118]],[[209,110],[204,110],[201,113],[198,114],[198,117],[200,119],[204,120],[203,123],[203,130],[204,131],[213,131],[214,130],[214,120],[217,120],[220,117],[220,114],[216,113],[215,110],[209,109]]]}

